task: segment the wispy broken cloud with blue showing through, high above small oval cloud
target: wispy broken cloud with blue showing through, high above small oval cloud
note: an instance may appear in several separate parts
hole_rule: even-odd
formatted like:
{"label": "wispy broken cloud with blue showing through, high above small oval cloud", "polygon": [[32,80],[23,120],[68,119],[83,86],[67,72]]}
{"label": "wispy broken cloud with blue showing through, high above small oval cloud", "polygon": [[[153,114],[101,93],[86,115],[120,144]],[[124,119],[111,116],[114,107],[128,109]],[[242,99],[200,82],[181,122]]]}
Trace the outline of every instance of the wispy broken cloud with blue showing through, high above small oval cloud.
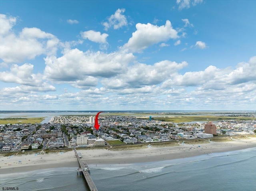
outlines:
{"label": "wispy broken cloud with blue showing through, high above small oval cloud", "polygon": [[122,26],[126,26],[127,20],[126,17],[123,15],[125,9],[118,9],[116,10],[115,14],[111,15],[108,18],[108,22],[104,22],[102,25],[105,27],[104,30],[108,30],[109,28],[113,27],[114,29],[122,28]]}

